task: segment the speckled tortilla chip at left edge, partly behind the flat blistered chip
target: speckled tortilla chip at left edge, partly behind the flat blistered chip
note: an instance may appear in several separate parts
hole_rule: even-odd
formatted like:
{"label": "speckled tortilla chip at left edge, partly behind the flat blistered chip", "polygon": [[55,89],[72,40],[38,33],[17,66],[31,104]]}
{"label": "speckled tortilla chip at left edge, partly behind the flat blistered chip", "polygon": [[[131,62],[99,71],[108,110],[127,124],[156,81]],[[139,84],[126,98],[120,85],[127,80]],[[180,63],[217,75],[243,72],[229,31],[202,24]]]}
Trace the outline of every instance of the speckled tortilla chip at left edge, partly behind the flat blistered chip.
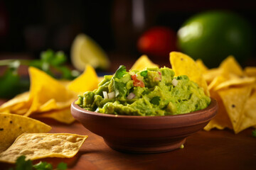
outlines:
{"label": "speckled tortilla chip at left edge, partly behind the flat blistered chip", "polygon": [[22,115],[0,113],[0,152],[11,146],[23,132],[49,132],[50,126]]}

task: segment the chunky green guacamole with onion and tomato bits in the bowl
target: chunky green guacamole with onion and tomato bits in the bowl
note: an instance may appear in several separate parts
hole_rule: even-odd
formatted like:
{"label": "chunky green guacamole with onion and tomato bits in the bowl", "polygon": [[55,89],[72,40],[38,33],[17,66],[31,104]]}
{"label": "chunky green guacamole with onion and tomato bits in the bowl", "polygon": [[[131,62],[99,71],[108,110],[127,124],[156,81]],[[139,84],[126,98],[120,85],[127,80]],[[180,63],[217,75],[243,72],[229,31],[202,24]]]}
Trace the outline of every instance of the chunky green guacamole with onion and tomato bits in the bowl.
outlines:
{"label": "chunky green guacamole with onion and tomato bits in the bowl", "polygon": [[120,66],[98,89],[75,101],[87,111],[115,115],[176,115],[206,108],[210,98],[186,75],[174,77],[167,67],[142,71]]}

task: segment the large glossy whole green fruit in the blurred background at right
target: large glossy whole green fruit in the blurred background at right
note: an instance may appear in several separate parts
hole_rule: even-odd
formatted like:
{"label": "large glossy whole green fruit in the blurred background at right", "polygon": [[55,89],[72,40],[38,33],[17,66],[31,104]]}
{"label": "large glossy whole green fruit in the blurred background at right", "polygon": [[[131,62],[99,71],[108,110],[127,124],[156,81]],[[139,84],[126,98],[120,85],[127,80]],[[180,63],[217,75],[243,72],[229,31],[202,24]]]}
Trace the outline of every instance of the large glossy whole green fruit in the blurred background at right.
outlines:
{"label": "large glossy whole green fruit in the blurred background at right", "polygon": [[244,18],[228,11],[208,11],[189,18],[178,30],[178,47],[208,67],[234,55],[239,62],[252,52],[252,28]]}

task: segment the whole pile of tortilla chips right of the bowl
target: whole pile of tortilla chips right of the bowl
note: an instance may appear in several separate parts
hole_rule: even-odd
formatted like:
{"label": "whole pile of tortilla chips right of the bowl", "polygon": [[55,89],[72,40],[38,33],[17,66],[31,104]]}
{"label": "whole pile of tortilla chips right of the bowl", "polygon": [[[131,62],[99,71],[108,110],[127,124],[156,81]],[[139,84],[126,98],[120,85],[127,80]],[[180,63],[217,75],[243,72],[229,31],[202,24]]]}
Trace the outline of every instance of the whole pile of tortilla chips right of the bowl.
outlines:
{"label": "whole pile of tortilla chips right of the bowl", "polygon": [[233,56],[220,67],[208,69],[201,60],[196,64],[203,72],[210,96],[218,101],[218,114],[204,128],[229,128],[238,133],[256,125],[256,67],[243,70]]}

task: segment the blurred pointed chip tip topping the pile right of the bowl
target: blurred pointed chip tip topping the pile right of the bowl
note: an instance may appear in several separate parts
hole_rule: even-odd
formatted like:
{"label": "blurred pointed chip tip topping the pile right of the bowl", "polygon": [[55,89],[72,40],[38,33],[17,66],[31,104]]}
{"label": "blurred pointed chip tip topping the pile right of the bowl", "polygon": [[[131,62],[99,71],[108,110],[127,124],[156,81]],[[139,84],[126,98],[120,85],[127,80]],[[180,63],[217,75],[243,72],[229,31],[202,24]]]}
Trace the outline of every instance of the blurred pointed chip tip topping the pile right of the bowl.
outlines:
{"label": "blurred pointed chip tip topping the pile right of the bowl", "polygon": [[220,69],[223,69],[228,73],[236,74],[240,77],[244,75],[242,72],[242,67],[232,55],[228,56],[225,60],[223,60],[223,62],[220,63]]}

